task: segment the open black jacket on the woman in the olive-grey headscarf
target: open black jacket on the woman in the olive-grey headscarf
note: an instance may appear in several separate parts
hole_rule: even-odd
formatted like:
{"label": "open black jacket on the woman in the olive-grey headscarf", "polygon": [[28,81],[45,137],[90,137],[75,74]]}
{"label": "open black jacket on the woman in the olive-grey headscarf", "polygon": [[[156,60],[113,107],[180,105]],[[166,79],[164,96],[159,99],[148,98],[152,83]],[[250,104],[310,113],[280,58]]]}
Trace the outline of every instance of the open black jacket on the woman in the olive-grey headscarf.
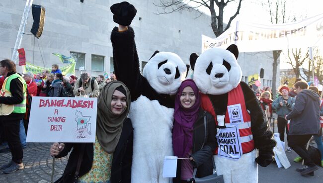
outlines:
{"label": "open black jacket on the woman in the olive-grey headscarf", "polygon": [[[110,183],[130,183],[133,146],[133,128],[131,120],[123,122],[122,132],[118,145],[113,153]],[[93,162],[93,143],[66,143],[63,151],[55,158],[66,156],[72,149],[63,177],[55,183],[72,183],[77,169],[81,150],[84,150],[80,174],[83,176],[90,171]]]}

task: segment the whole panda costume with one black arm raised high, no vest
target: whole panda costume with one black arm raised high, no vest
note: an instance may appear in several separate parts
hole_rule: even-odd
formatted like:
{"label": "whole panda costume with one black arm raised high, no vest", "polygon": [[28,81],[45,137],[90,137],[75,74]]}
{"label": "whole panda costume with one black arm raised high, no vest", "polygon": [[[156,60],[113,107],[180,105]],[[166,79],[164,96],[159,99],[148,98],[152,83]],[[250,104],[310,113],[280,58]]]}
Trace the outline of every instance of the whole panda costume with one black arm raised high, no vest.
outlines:
{"label": "whole panda costume with one black arm raised high, no vest", "polygon": [[[111,11],[119,27],[129,26],[136,14],[135,7],[128,2],[112,5]],[[164,157],[173,155],[173,95],[188,68],[178,55],[156,51],[141,75],[134,30],[113,28],[111,42],[116,78],[131,94],[129,118],[134,127],[131,182],[170,183],[170,178],[162,177],[162,168]]]}

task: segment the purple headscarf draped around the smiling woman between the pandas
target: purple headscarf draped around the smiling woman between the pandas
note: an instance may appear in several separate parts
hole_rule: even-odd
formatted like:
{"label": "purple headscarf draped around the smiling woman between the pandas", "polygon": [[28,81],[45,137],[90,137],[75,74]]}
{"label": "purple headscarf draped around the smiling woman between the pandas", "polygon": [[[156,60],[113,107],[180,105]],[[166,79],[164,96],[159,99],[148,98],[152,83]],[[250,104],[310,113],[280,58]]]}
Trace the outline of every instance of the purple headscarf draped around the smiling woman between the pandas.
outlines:
{"label": "purple headscarf draped around the smiling woman between the pandas", "polygon": [[[180,102],[180,95],[186,87],[191,87],[196,97],[190,108],[184,108]],[[175,96],[173,150],[177,157],[184,157],[193,148],[193,125],[198,117],[200,108],[200,93],[192,79],[182,82]]]}

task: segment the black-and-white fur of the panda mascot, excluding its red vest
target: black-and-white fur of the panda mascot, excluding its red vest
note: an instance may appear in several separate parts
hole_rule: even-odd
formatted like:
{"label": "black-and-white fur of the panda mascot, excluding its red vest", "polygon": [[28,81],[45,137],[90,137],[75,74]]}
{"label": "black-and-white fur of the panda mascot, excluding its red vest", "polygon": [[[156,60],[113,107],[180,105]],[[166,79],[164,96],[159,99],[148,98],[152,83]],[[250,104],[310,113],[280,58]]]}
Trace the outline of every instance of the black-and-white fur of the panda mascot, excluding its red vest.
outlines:
{"label": "black-and-white fur of the panda mascot, excluding its red vest", "polygon": [[[247,112],[250,114],[251,132],[255,149],[242,154],[239,160],[214,156],[218,175],[223,175],[225,183],[257,183],[258,163],[266,167],[273,161],[273,148],[276,145],[272,132],[268,130],[262,108],[253,91],[241,82],[242,70],[238,65],[238,47],[231,45],[227,50],[211,48],[200,56],[190,56],[191,68],[194,70],[194,81],[199,90],[207,94],[216,113],[218,128],[225,127],[228,92],[239,84],[245,100]],[[256,149],[259,156],[256,157]]]}

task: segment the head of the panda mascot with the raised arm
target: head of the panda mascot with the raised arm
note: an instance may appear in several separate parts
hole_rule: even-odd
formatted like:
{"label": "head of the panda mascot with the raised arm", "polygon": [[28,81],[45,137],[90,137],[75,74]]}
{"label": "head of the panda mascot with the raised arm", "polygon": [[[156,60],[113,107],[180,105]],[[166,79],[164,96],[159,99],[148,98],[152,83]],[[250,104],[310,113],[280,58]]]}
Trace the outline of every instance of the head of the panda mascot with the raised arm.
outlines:
{"label": "head of the panda mascot with the raised arm", "polygon": [[156,51],[144,67],[143,76],[158,93],[173,95],[185,80],[188,68],[175,53]]}

